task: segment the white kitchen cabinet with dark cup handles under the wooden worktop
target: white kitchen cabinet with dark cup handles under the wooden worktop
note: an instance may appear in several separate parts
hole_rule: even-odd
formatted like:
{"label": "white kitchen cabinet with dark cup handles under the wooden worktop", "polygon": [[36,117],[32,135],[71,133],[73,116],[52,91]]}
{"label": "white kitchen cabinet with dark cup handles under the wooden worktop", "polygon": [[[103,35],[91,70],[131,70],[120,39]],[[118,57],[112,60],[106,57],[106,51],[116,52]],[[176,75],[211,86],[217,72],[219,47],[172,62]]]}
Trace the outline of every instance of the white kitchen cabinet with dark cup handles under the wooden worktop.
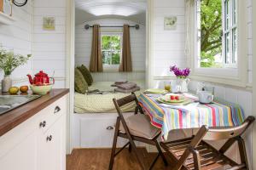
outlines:
{"label": "white kitchen cabinet with dark cup handles under the wooden worktop", "polygon": [[0,137],[1,170],[66,169],[67,97]]}

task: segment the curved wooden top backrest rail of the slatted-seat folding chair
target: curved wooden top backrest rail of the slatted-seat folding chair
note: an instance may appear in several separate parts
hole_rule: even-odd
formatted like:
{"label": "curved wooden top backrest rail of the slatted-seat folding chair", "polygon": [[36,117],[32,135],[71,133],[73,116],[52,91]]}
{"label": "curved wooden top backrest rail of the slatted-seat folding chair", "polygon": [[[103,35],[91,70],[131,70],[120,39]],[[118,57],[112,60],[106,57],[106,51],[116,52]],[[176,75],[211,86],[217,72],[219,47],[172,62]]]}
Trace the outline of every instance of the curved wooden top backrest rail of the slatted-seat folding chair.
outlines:
{"label": "curved wooden top backrest rail of the slatted-seat folding chair", "polygon": [[247,119],[238,127],[223,127],[223,128],[209,128],[204,140],[221,140],[221,139],[231,139],[237,136],[241,136],[247,128],[254,122],[255,118],[253,116],[248,116]]}

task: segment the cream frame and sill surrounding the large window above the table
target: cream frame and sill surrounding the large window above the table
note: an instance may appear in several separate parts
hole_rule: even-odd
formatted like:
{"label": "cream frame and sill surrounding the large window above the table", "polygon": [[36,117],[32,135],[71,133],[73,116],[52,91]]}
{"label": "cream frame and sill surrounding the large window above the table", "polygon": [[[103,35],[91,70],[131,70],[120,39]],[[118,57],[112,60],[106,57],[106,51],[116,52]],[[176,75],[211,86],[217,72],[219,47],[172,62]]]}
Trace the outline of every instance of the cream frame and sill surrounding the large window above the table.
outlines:
{"label": "cream frame and sill surrounding the large window above the table", "polygon": [[[224,0],[223,0],[224,1]],[[191,68],[191,78],[200,81],[217,82],[237,87],[247,87],[247,12],[246,2],[237,0],[236,4],[237,20],[237,67],[225,68],[203,68],[199,67],[198,40],[197,40],[197,0],[193,7],[192,50],[189,56]],[[223,50],[224,51],[224,50]]]}

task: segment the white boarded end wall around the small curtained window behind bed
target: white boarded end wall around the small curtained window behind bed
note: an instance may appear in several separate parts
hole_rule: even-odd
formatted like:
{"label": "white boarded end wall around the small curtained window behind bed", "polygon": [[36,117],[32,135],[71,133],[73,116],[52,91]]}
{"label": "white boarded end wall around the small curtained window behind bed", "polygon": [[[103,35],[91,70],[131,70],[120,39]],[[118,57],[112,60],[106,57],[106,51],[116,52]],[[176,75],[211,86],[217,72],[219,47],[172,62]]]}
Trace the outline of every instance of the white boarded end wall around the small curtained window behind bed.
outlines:
{"label": "white boarded end wall around the small curtained window behind bed", "polygon": [[[90,52],[92,41],[92,29],[85,30],[84,25],[99,24],[102,26],[123,26],[124,24],[136,25],[137,23],[130,20],[106,18],[100,20],[92,20],[85,22],[83,25],[76,26],[75,32],[75,63],[76,65],[84,64],[90,65]],[[122,29],[116,28],[102,28],[104,31],[122,32]],[[119,72],[102,72],[93,73],[93,77],[97,82],[115,81],[118,79],[136,80],[144,78],[145,71],[145,58],[146,58],[146,32],[145,26],[140,25],[140,29],[136,30],[131,28],[131,56],[133,72],[131,73],[119,73]]]}

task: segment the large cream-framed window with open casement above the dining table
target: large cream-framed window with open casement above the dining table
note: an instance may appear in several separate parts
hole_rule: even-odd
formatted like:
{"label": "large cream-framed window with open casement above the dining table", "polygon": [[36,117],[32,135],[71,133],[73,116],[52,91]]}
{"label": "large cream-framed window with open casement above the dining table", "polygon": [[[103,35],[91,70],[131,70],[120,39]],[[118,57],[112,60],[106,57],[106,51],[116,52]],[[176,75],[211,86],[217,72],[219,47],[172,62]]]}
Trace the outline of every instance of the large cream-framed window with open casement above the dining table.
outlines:
{"label": "large cream-framed window with open casement above the dining table", "polygon": [[188,2],[186,52],[191,59],[191,77],[200,81],[247,87],[246,1]]}

